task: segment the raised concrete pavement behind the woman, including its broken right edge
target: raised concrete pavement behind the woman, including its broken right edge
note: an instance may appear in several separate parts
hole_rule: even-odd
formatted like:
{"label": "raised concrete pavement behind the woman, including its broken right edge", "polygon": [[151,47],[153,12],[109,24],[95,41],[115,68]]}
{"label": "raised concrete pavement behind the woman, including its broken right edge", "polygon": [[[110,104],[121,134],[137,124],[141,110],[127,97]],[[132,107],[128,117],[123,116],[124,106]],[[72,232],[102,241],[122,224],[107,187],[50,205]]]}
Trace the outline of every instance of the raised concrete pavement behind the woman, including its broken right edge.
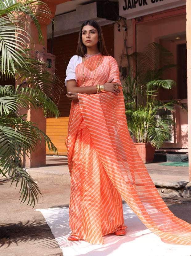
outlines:
{"label": "raised concrete pavement behind the woman, including its broken right edge", "polygon": [[[161,163],[145,164],[156,188],[163,197],[191,197],[188,167],[172,167]],[[70,185],[66,156],[47,156],[45,167],[30,168],[26,171],[35,180],[50,180],[55,184]]]}

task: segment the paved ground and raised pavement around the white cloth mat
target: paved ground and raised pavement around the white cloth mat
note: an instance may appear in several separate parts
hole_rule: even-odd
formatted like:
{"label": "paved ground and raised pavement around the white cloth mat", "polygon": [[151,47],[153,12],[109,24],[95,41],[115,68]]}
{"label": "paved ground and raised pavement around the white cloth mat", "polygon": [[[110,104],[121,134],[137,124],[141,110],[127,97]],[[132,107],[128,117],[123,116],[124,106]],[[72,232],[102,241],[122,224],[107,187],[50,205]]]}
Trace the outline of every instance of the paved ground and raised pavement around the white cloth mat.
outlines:
{"label": "paved ground and raised pavement around the white cloth mat", "polygon": [[[169,185],[188,182],[188,167],[168,167],[159,163],[146,165],[153,181]],[[28,170],[35,177],[43,194],[32,208],[18,202],[18,190],[10,181],[1,179],[1,256],[63,255],[45,219],[35,209],[69,205],[70,185],[65,157],[47,157],[47,166]],[[163,187],[159,189],[164,189]],[[163,196],[164,193],[161,193]],[[191,200],[175,195],[164,197],[169,209],[179,218],[191,223]]]}

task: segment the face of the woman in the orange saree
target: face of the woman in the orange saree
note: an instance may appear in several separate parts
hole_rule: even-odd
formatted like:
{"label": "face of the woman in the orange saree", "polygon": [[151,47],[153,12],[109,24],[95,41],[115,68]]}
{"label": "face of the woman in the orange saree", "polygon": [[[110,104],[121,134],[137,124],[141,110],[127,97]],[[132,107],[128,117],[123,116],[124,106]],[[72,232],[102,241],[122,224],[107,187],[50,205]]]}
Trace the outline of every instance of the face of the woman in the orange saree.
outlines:
{"label": "face of the woman in the orange saree", "polygon": [[98,39],[99,35],[96,28],[90,25],[86,25],[82,28],[82,42],[86,47],[97,46]]}

